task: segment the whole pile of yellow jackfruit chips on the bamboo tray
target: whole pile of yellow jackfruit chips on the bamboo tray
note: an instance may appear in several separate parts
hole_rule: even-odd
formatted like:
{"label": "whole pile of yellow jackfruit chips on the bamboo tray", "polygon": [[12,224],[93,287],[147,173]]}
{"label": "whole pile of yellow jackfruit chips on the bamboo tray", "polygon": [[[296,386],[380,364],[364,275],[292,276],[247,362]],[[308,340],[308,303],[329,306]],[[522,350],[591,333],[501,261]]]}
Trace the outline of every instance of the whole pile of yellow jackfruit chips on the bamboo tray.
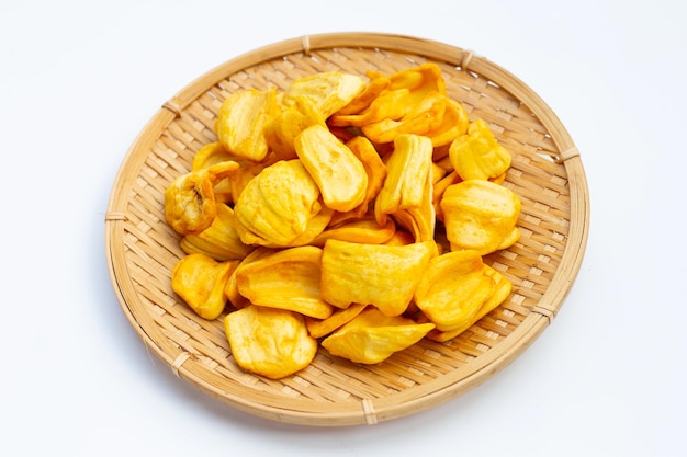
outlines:
{"label": "whole pile of yellow jackfruit chips on the bamboo tray", "polygon": [[279,379],[320,346],[378,364],[510,294],[483,258],[519,237],[511,157],[437,65],[240,90],[215,133],[165,192],[187,254],[171,287],[200,317],[224,313],[243,369]]}

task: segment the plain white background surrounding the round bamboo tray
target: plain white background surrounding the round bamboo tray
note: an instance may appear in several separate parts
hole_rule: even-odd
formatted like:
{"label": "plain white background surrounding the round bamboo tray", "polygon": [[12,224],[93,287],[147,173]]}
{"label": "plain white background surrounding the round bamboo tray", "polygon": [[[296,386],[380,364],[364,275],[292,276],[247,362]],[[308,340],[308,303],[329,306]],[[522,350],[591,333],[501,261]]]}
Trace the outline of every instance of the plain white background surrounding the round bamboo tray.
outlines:
{"label": "plain white background surrounding the round bamboo tray", "polygon": [[[2,1],[0,454],[685,456],[687,14],[655,1]],[[534,344],[478,388],[374,426],[237,412],[149,354],[114,296],[104,214],[153,114],[306,34],[474,50],[559,115],[592,196],[585,261]]]}

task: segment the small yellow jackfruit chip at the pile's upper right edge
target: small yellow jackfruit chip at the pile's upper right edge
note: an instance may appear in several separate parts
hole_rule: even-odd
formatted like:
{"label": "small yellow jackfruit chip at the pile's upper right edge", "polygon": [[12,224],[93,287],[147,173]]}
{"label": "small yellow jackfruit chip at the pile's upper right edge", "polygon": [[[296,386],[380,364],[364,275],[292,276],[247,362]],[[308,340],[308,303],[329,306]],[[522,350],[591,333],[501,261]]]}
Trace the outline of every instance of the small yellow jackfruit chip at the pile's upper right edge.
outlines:
{"label": "small yellow jackfruit chip at the pile's upper right edge", "polygon": [[463,180],[496,179],[510,167],[510,153],[482,119],[470,124],[468,134],[453,140],[449,157]]}

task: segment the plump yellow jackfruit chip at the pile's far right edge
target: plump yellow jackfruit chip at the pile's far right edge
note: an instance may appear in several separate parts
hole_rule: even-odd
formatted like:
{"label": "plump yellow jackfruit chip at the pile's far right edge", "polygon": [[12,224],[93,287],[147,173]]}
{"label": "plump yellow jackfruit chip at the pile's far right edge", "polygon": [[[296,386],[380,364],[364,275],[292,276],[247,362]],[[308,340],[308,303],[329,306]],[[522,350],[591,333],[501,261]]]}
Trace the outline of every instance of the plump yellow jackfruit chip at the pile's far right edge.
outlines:
{"label": "plump yellow jackfruit chip at the pile's far right edge", "polygon": [[474,249],[486,255],[519,238],[520,198],[500,184],[485,180],[452,184],[443,192],[440,206],[453,251]]}

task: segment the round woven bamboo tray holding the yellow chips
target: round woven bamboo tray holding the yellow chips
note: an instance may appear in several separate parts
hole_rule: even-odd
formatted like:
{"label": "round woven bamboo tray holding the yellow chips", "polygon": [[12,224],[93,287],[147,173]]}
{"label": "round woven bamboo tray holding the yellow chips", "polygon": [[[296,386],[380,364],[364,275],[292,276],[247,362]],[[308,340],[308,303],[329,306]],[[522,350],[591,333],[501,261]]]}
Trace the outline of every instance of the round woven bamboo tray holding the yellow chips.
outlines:
{"label": "round woven bamboo tray holding the yellow chips", "polygon": [[[385,75],[438,64],[450,95],[487,121],[514,156],[505,185],[522,201],[521,239],[486,261],[514,284],[510,297],[449,343],[421,341],[375,366],[320,350],[309,367],[273,381],[240,370],[221,320],[198,318],[170,287],[183,254],[164,217],[167,184],[215,140],[222,101],[247,88],[285,89],[340,70]],[[426,410],[499,373],[551,323],[577,276],[589,224],[583,164],[554,113],[505,69],[471,52],[416,37],[341,33],[284,41],[229,60],[171,98],[135,139],[105,216],[106,255],[119,301],[146,345],[173,373],[233,408],[320,426],[374,424]]]}

